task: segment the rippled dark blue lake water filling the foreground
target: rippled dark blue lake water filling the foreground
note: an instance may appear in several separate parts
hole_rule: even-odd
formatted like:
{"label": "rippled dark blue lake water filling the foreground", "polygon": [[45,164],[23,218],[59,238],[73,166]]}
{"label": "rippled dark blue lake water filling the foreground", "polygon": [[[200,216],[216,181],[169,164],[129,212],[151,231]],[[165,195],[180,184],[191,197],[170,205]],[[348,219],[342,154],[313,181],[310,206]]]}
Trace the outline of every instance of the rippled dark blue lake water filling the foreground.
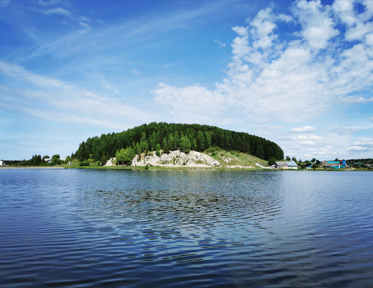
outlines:
{"label": "rippled dark blue lake water filling the foreground", "polygon": [[1,287],[373,287],[373,173],[0,170]]}

